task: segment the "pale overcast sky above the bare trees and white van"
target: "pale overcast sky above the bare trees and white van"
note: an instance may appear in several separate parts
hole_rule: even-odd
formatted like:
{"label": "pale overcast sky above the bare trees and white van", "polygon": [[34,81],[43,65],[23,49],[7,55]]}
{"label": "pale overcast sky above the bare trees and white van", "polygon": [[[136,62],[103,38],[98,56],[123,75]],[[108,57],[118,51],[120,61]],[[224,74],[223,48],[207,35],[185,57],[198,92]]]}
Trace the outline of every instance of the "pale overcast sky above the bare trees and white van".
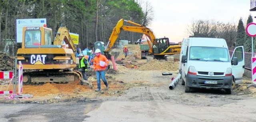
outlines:
{"label": "pale overcast sky above the bare trees and white van", "polygon": [[[148,0],[154,10],[154,20],[148,28],[156,37],[169,37],[171,42],[187,38],[192,20],[216,20],[238,24],[242,17],[246,24],[250,12],[250,0]],[[255,18],[254,18],[255,22]]]}

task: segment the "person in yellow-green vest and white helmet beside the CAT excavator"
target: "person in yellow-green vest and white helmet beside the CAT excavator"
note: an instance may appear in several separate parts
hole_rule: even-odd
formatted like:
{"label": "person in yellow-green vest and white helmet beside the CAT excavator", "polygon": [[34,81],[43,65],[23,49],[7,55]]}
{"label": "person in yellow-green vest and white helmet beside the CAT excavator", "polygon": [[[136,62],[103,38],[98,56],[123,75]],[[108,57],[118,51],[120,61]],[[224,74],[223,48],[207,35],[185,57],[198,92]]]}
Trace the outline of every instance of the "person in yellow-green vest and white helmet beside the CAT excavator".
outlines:
{"label": "person in yellow-green vest and white helmet beside the CAT excavator", "polygon": [[82,53],[78,55],[78,58],[78,71],[82,73],[84,80],[87,81],[86,71],[88,69],[88,60],[84,58],[84,55]]}

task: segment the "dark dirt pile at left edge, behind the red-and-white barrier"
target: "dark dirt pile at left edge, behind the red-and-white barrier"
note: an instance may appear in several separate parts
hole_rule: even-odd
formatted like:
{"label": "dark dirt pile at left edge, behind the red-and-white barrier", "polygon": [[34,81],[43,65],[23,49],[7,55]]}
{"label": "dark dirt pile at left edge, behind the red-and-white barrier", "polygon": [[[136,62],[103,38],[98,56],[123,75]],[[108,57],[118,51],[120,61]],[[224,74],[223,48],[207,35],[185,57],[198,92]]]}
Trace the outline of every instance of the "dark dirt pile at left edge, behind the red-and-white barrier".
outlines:
{"label": "dark dirt pile at left edge, behind the red-and-white barrier", "polygon": [[12,71],[12,69],[14,69],[14,62],[14,57],[10,57],[6,53],[0,52],[0,71]]}

